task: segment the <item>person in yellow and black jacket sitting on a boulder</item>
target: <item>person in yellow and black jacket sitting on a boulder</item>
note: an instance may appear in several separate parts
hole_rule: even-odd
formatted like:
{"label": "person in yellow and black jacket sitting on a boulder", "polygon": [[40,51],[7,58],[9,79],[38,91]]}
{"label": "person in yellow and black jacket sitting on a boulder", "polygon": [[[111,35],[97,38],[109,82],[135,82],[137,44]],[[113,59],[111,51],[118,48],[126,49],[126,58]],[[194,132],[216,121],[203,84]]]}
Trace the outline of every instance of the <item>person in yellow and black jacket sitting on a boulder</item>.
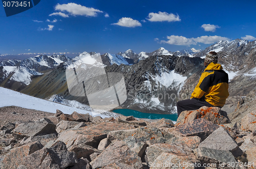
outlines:
{"label": "person in yellow and black jacket sitting on a boulder", "polygon": [[195,110],[202,106],[223,107],[229,96],[228,74],[217,62],[218,54],[215,51],[206,54],[204,60],[206,68],[190,99],[177,102],[178,117],[184,110]]}

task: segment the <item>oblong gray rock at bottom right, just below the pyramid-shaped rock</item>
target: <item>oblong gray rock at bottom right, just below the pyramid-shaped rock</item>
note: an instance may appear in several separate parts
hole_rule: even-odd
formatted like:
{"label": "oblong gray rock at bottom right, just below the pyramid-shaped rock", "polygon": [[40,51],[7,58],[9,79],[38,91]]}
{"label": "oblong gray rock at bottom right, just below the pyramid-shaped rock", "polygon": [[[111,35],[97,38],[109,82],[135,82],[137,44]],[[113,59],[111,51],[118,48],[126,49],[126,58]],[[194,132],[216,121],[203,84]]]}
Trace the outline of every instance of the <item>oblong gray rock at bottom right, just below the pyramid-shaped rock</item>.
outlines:
{"label": "oblong gray rock at bottom right, just below the pyramid-shaped rock", "polygon": [[229,151],[215,150],[202,147],[195,149],[194,153],[197,156],[197,159],[199,159],[202,163],[206,164],[217,164],[217,166],[220,166],[220,164],[224,163],[224,167],[228,168],[228,162],[236,163],[236,159],[234,159],[234,156]]}

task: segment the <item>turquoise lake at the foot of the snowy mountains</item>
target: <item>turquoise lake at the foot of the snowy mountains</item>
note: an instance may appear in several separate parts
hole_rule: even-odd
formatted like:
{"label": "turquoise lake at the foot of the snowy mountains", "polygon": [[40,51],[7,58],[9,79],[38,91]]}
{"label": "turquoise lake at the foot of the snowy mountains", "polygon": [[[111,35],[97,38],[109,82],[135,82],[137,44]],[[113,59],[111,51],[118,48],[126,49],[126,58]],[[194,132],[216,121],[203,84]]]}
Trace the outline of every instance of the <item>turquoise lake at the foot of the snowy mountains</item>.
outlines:
{"label": "turquoise lake at the foot of the snowy mountains", "polygon": [[131,110],[131,109],[116,109],[113,111],[123,116],[133,116],[135,118],[146,118],[146,119],[164,118],[164,119],[170,119],[172,121],[177,121],[178,119],[177,114],[172,114],[172,115],[150,114],[150,113],[140,112],[140,111]]}

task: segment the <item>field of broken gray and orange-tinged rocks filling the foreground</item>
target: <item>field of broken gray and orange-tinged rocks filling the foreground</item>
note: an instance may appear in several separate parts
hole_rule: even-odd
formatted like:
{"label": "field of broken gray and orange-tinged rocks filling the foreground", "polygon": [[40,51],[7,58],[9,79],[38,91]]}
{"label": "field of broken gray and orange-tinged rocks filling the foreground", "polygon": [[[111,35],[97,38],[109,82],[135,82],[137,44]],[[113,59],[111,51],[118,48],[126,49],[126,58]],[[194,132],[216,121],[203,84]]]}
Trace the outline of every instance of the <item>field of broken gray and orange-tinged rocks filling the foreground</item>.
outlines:
{"label": "field of broken gray and orange-tinged rocks filling the foreground", "polygon": [[1,126],[0,168],[256,168],[256,111],[232,123],[204,106],[174,124],[57,110]]}

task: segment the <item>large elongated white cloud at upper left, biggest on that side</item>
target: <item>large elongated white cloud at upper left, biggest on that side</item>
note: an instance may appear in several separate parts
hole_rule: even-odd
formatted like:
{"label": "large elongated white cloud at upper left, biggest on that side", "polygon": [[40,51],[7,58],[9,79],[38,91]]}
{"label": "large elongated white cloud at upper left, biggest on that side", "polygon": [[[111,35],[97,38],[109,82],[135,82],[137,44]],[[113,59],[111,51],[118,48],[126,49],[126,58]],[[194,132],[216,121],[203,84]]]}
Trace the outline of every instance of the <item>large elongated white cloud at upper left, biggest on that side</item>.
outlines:
{"label": "large elongated white cloud at upper left, biggest on that side", "polygon": [[96,16],[97,12],[102,13],[102,11],[94,8],[87,8],[75,3],[68,3],[68,4],[57,4],[55,6],[56,11],[66,11],[71,15],[82,15],[82,16]]}

